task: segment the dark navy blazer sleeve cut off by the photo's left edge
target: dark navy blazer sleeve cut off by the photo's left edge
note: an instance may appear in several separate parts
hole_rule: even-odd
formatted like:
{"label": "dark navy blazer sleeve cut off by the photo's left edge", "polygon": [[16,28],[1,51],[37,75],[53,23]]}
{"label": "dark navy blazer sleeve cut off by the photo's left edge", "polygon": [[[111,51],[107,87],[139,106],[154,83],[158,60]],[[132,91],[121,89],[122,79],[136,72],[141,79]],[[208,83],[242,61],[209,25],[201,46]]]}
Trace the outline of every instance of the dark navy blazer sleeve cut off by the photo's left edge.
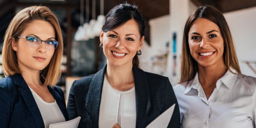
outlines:
{"label": "dark navy blazer sleeve cut off by the photo's left edge", "polygon": [[9,120],[11,116],[12,109],[12,93],[8,91],[0,84],[0,126],[1,128],[8,128]]}

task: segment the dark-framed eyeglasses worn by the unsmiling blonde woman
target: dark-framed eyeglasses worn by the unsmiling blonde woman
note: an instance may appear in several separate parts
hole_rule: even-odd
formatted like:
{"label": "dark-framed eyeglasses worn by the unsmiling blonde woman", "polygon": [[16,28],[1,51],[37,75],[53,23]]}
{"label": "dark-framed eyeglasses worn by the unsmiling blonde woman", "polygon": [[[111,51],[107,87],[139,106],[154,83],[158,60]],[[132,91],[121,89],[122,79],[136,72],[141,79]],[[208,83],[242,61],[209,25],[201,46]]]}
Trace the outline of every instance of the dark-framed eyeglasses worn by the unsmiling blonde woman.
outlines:
{"label": "dark-framed eyeglasses worn by the unsmiling blonde woman", "polygon": [[18,38],[26,38],[27,44],[30,47],[38,47],[42,42],[45,42],[45,47],[49,50],[55,50],[59,43],[58,41],[55,41],[55,40],[43,41],[36,37],[18,37]]}

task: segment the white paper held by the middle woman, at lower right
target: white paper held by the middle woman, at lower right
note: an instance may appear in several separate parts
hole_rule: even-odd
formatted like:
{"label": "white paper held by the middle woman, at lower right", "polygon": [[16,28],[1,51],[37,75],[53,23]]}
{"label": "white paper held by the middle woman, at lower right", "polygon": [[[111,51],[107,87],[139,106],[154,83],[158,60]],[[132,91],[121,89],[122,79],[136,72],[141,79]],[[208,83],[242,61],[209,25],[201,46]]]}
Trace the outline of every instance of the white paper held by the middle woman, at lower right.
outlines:
{"label": "white paper held by the middle woman, at lower right", "polygon": [[175,104],[153,120],[146,128],[167,128],[173,115]]}

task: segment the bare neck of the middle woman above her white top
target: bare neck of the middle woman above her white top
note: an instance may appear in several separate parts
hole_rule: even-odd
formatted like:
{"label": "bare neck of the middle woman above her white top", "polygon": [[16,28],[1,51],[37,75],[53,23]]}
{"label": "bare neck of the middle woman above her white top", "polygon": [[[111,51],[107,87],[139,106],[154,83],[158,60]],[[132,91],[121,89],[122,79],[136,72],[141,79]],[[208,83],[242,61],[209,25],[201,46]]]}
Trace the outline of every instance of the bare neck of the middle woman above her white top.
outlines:
{"label": "bare neck of the middle woman above her white top", "polygon": [[128,90],[134,83],[132,63],[115,66],[107,61],[106,78],[108,82],[117,90]]}

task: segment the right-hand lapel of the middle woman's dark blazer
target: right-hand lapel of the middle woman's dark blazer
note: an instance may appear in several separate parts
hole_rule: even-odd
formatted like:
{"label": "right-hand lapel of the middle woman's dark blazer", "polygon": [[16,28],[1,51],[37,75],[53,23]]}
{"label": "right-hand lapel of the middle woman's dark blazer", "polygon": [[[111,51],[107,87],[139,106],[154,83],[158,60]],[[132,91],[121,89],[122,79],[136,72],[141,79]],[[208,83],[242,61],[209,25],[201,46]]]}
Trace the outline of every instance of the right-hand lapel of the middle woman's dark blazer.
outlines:
{"label": "right-hand lapel of the middle woman's dark blazer", "polygon": [[136,100],[136,128],[146,127],[149,124],[147,114],[151,107],[148,80],[145,72],[135,65],[132,67],[135,82]]}

